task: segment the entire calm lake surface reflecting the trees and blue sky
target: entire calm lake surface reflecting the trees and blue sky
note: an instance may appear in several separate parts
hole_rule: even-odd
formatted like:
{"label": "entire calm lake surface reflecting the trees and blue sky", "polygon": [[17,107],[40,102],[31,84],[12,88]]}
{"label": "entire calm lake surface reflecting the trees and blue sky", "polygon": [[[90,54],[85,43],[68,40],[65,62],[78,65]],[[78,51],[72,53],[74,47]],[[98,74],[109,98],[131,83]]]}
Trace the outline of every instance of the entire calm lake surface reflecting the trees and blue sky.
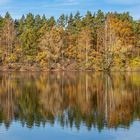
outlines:
{"label": "entire calm lake surface reflecting the trees and blue sky", "polygon": [[0,140],[140,140],[140,73],[1,73]]}

